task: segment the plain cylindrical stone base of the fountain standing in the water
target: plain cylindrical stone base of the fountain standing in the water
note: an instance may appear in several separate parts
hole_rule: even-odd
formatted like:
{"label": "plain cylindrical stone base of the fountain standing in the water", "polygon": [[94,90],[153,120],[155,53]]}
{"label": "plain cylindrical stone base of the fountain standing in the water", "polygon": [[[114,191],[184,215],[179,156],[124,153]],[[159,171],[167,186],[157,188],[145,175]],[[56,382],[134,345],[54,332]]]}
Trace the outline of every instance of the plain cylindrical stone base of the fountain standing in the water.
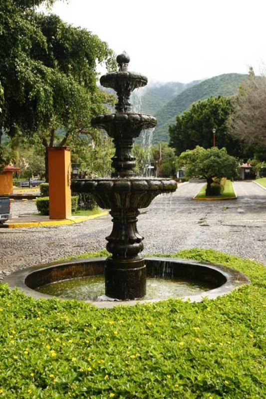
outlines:
{"label": "plain cylindrical stone base of the fountain standing in the water", "polygon": [[115,299],[136,299],[146,295],[146,266],[143,258],[106,259],[105,295]]}

